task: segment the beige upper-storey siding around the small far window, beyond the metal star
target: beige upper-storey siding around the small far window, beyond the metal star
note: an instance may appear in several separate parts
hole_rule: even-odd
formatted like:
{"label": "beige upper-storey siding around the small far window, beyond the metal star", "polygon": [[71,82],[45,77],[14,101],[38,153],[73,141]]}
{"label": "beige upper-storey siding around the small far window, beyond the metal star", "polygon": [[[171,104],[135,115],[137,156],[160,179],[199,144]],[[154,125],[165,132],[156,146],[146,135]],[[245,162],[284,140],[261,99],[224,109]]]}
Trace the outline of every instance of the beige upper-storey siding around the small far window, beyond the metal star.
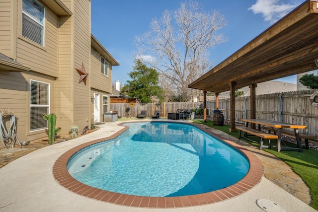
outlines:
{"label": "beige upper-storey siding around the small far window, beyond the metal star", "polygon": [[93,82],[91,83],[91,87],[111,93],[111,71],[108,69],[108,76],[100,72],[100,57],[100,54],[94,48],[91,48],[90,80]]}

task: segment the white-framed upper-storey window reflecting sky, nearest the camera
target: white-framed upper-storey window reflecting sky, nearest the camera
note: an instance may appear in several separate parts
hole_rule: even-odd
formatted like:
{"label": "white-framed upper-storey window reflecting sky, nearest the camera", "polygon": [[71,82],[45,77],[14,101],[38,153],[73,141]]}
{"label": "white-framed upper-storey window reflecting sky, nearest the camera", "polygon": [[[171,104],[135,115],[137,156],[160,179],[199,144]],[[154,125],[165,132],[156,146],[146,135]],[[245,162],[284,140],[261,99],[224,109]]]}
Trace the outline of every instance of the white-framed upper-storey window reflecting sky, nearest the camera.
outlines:
{"label": "white-framed upper-storey window reflecting sky, nearest the camera", "polygon": [[44,46],[44,7],[37,0],[22,1],[22,36]]}

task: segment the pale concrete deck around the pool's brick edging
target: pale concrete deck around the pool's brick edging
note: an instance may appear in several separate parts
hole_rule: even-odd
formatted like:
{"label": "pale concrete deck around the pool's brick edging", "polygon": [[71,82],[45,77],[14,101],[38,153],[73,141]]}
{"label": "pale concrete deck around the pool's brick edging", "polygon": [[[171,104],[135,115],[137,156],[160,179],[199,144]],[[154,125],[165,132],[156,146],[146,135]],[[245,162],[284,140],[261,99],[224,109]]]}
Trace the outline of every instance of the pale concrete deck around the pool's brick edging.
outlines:
{"label": "pale concrete deck around the pool's brick edging", "polygon": [[[138,121],[138,120],[137,120]],[[75,194],[61,186],[53,176],[55,161],[69,149],[123,129],[120,122],[105,123],[88,135],[50,145],[20,157],[0,168],[0,211],[119,211],[156,212],[163,209],[119,206]],[[255,153],[257,154],[257,153]],[[276,186],[265,177],[248,191],[225,201],[193,207],[164,209],[167,212],[241,211],[261,212],[256,200],[271,200],[285,212],[315,212],[310,206]]]}

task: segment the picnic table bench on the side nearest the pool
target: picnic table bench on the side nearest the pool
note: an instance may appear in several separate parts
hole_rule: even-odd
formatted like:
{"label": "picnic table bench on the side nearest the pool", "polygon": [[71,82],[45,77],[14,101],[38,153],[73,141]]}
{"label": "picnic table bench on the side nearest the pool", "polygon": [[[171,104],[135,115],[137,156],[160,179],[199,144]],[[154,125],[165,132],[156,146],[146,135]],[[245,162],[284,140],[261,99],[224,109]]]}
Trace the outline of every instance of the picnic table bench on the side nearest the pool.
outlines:
{"label": "picnic table bench on the side nearest the pool", "polygon": [[[244,132],[243,138],[247,139],[248,141],[252,141],[252,142],[258,143],[259,144],[259,149],[270,148],[270,140],[271,139],[278,139],[277,135],[267,134],[267,133],[264,133],[262,131],[251,129],[251,128],[248,128],[248,127],[236,127],[236,129],[239,130],[239,139],[241,138],[241,133]],[[257,142],[257,141],[249,139],[248,138],[248,134],[251,134],[253,136],[259,137],[260,138],[260,142]],[[268,145],[263,145],[263,139],[268,139]]]}

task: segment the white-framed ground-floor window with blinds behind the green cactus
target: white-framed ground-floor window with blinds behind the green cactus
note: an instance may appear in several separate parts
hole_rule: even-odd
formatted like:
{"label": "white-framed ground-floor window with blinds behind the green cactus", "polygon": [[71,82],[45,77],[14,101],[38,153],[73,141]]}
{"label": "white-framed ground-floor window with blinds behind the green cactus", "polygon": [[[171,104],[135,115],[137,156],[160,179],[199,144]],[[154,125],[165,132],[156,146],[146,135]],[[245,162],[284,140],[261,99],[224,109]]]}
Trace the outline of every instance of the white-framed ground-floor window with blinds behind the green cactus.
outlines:
{"label": "white-framed ground-floor window with blinds behind the green cactus", "polygon": [[50,113],[50,84],[30,80],[30,131],[48,128],[43,114]]}

